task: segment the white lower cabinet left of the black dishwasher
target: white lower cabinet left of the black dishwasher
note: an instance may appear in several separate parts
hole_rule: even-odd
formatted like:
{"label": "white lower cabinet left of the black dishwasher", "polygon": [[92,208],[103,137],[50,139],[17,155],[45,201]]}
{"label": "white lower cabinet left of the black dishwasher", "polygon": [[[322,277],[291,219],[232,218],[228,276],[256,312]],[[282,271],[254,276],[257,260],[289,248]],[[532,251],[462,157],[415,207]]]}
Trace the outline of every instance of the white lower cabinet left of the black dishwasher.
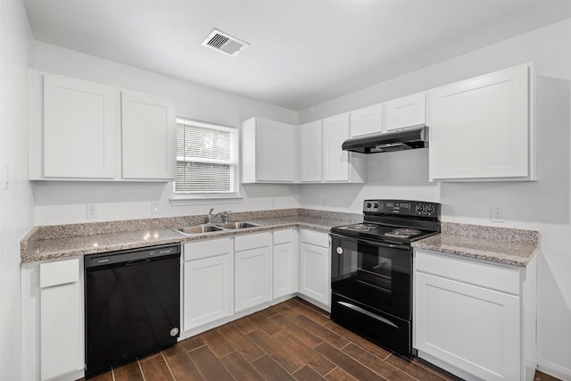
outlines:
{"label": "white lower cabinet left of the black dishwasher", "polygon": [[22,379],[83,376],[82,263],[76,259],[22,264]]}

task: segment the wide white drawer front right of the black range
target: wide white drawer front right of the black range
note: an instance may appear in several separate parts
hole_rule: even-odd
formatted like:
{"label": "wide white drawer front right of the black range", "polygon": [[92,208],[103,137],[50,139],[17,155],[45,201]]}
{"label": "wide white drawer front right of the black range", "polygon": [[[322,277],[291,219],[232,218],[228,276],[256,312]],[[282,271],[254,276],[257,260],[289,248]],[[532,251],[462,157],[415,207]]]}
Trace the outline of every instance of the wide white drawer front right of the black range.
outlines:
{"label": "wide white drawer front right of the black range", "polygon": [[434,274],[504,293],[519,294],[519,271],[417,250],[417,271]]}

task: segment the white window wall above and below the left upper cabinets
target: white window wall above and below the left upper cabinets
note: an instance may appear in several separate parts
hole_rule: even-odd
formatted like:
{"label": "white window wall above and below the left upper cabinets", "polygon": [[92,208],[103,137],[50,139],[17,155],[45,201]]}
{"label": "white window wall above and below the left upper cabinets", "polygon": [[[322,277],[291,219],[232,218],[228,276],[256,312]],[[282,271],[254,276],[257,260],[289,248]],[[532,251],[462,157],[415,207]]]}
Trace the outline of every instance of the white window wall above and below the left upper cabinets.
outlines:
{"label": "white window wall above and below the left upper cabinets", "polygon": [[[252,116],[297,124],[297,112],[259,101],[202,87],[145,70],[106,61],[87,54],[35,41],[29,66],[72,78],[170,98],[181,117],[240,126]],[[141,219],[203,214],[216,210],[253,211],[296,208],[298,186],[242,186],[242,200],[220,205],[217,200],[172,206],[172,183],[118,184],[42,182],[32,185],[36,225]],[[161,214],[151,214],[151,202],[160,201]],[[95,203],[98,219],[86,218],[86,204]]]}

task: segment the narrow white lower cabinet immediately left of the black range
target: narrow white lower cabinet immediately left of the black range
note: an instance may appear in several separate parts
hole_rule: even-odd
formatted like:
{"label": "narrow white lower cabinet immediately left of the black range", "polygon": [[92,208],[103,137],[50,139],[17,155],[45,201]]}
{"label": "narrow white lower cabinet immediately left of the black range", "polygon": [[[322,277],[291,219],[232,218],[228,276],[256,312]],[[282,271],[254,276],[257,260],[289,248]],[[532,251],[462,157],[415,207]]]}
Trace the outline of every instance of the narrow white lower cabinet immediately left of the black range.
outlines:
{"label": "narrow white lower cabinet immediately left of the black range", "polygon": [[300,244],[300,294],[330,305],[331,274],[329,235],[302,229]]}

